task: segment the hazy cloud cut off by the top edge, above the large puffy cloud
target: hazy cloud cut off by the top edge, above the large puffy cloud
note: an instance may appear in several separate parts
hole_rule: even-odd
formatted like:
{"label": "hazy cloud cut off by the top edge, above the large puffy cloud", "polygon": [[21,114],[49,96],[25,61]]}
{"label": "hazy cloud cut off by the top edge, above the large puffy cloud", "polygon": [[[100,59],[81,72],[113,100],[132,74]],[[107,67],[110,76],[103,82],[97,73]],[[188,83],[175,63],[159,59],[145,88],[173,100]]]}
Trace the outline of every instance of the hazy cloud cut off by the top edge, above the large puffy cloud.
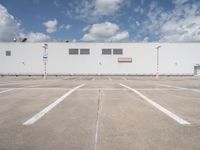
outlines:
{"label": "hazy cloud cut off by the top edge, above the large puffy cloud", "polygon": [[116,15],[125,0],[81,0],[69,3],[69,8],[63,13],[73,18],[94,22],[105,16]]}

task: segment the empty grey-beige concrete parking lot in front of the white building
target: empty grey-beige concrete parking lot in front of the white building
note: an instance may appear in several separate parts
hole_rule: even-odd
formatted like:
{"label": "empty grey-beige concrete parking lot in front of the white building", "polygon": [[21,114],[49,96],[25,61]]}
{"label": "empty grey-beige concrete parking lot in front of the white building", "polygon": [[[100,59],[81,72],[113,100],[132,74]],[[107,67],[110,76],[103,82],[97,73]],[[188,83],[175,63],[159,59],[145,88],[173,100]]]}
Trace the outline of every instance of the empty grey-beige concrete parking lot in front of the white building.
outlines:
{"label": "empty grey-beige concrete parking lot in front of the white building", "polygon": [[0,150],[199,150],[199,141],[200,77],[0,77]]}

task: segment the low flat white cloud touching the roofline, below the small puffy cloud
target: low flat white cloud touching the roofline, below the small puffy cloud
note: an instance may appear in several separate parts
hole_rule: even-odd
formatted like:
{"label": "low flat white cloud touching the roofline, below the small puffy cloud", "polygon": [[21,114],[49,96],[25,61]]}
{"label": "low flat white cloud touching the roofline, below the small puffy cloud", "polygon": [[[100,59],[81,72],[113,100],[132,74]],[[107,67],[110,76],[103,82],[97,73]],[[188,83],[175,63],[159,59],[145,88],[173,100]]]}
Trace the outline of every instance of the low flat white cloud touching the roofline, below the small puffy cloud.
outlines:
{"label": "low flat white cloud touching the roofline, below the small puffy cloud", "polygon": [[20,34],[21,38],[27,38],[27,42],[47,42],[51,38],[47,36],[46,34],[43,33],[38,33],[38,32],[29,32],[27,34]]}

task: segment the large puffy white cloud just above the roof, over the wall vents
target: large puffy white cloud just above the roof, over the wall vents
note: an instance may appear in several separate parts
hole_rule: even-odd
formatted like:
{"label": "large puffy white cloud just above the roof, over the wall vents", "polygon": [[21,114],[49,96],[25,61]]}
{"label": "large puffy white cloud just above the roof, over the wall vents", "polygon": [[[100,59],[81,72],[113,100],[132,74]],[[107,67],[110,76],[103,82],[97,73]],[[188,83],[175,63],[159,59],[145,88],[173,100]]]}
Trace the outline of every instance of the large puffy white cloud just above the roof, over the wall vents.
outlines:
{"label": "large puffy white cloud just above the roof, over the wall vents", "polygon": [[93,24],[81,40],[92,42],[120,42],[128,38],[129,33],[127,31],[120,31],[118,25],[105,22]]}

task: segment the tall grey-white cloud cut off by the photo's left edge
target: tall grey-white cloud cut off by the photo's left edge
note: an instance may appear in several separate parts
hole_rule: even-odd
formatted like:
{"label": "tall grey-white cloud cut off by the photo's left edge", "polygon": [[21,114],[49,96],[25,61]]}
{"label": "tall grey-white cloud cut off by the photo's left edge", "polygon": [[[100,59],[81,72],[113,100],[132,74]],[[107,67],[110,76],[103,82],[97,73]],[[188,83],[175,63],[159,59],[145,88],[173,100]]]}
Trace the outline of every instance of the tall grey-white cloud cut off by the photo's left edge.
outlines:
{"label": "tall grey-white cloud cut off by the photo's left edge", "polygon": [[10,15],[0,4],[0,41],[13,41],[20,32],[20,21]]}

